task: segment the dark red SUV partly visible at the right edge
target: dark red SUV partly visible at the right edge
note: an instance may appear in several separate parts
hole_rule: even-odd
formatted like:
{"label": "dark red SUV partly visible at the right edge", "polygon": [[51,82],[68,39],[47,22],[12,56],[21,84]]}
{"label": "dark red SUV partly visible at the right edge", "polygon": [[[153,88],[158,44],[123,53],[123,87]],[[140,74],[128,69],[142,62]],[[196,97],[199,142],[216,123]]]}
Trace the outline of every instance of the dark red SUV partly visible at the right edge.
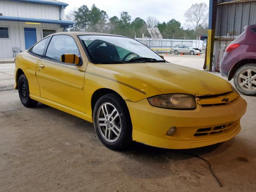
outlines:
{"label": "dark red SUV partly visible at the right edge", "polygon": [[256,96],[256,25],[244,29],[224,51],[220,73],[229,81],[234,78],[240,93]]}

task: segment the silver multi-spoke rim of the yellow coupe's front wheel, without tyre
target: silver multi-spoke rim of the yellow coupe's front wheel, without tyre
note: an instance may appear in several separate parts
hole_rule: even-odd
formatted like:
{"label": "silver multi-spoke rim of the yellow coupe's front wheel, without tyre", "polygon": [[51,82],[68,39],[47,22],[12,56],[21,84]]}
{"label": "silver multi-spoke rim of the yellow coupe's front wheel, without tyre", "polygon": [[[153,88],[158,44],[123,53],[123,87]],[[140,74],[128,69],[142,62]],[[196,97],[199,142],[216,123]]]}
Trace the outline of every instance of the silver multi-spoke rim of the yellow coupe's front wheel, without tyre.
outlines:
{"label": "silver multi-spoke rim of the yellow coupe's front wheel, without tyre", "polygon": [[97,125],[104,140],[115,142],[118,140],[122,125],[118,110],[111,103],[103,103],[97,112]]}

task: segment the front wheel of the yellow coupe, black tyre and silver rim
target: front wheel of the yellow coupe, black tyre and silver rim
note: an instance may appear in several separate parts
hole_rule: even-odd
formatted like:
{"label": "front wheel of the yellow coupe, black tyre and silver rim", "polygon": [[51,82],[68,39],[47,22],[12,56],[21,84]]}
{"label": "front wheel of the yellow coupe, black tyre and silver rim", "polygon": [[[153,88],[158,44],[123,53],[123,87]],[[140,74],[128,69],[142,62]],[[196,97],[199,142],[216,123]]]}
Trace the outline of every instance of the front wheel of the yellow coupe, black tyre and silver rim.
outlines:
{"label": "front wheel of the yellow coupe, black tyre and silver rim", "polygon": [[130,114],[117,94],[99,98],[93,111],[93,123],[100,141],[112,150],[120,150],[132,142]]}

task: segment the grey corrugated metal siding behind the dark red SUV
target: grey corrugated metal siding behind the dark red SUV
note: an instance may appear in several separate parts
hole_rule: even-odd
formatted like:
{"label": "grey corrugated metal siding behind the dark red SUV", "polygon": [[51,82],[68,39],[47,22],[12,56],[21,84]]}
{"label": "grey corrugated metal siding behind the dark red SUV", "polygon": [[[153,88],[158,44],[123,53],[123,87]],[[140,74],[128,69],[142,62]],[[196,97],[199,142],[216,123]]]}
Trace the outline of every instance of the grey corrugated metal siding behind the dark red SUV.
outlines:
{"label": "grey corrugated metal siding behind the dark red SUV", "polygon": [[[230,2],[234,0],[218,0],[218,2]],[[256,24],[256,2],[244,2],[217,6],[215,38],[236,38],[247,25]],[[229,36],[227,34],[229,33]],[[215,63],[222,58],[222,45],[228,46],[232,40],[215,40]],[[220,57],[219,57],[220,56]],[[220,59],[218,59],[218,57]]]}

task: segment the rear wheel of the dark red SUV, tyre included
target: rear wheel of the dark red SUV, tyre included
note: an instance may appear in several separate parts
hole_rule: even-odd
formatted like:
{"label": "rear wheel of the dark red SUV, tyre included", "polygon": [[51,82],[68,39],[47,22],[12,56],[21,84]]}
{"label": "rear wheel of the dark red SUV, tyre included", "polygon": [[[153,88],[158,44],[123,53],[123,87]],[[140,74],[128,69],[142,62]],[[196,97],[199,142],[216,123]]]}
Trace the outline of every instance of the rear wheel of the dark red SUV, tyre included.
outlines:
{"label": "rear wheel of the dark red SUV, tyre included", "polygon": [[256,96],[256,64],[241,66],[234,76],[236,89],[248,96]]}

